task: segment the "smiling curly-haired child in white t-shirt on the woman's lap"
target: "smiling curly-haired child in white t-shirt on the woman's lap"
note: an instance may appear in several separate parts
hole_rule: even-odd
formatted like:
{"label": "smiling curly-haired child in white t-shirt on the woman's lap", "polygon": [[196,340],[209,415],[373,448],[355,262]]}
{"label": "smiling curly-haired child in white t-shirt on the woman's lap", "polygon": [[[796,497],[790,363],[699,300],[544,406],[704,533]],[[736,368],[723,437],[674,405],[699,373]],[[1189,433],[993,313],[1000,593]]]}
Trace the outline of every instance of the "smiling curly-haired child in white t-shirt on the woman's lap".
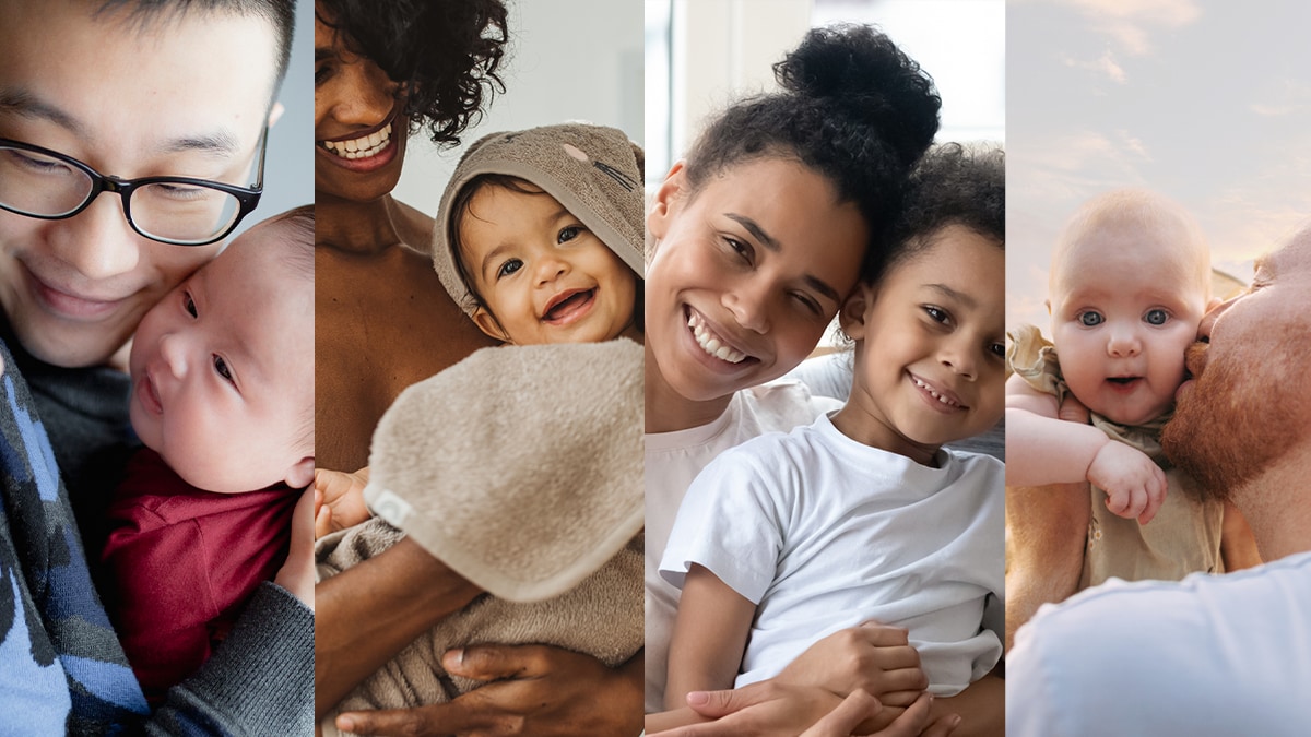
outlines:
{"label": "smiling curly-haired child in white t-shirt on the woman's lap", "polygon": [[839,312],[846,405],[692,483],[661,561],[682,588],[669,708],[865,620],[909,628],[937,695],[998,662],[983,619],[1003,597],[1003,466],[943,445],[1003,413],[1004,182],[998,149],[926,155],[894,245]]}

